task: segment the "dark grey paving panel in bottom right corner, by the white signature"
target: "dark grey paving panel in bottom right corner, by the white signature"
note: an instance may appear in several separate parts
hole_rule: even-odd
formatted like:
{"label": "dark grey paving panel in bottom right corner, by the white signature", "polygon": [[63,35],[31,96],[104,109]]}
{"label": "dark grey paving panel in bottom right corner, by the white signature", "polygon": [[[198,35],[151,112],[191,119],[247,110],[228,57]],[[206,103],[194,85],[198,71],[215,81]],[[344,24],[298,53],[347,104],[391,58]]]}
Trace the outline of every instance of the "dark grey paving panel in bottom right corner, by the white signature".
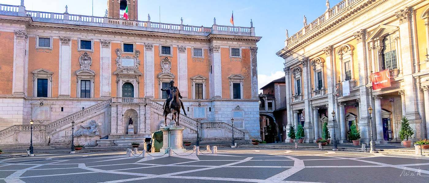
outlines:
{"label": "dark grey paving panel in bottom right corner, by the white signature", "polygon": [[[403,176],[392,167],[304,168],[284,180],[324,183],[427,183],[428,177]],[[314,175],[314,176],[313,176]],[[318,176],[316,176],[318,175]],[[335,175],[335,176],[332,176]],[[402,175],[402,176],[401,176]],[[422,174],[426,175],[426,174]]]}

